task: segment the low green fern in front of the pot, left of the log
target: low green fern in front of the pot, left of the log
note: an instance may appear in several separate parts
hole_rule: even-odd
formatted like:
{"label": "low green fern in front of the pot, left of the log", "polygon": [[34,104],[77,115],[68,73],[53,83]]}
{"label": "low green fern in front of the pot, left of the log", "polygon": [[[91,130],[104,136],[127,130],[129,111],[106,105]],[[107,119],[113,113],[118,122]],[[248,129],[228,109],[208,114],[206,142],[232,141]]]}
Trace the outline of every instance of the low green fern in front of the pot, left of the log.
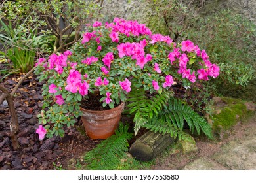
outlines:
{"label": "low green fern in front of the pot, left of the log", "polygon": [[85,163],[88,169],[116,169],[121,163],[121,159],[127,156],[128,141],[132,133],[128,133],[128,126],[122,123],[116,134],[100,142],[93,150],[85,154]]}

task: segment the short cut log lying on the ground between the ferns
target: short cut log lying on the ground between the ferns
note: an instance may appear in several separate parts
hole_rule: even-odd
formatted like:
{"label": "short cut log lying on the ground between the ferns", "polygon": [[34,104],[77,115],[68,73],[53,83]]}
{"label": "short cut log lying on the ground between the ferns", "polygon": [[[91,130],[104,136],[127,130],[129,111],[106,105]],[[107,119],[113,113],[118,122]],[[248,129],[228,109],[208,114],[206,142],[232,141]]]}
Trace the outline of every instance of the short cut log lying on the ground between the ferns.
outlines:
{"label": "short cut log lying on the ground between the ferns", "polygon": [[148,131],[131,145],[130,153],[137,160],[150,161],[173,142],[175,139],[171,138],[169,134],[161,135]]}

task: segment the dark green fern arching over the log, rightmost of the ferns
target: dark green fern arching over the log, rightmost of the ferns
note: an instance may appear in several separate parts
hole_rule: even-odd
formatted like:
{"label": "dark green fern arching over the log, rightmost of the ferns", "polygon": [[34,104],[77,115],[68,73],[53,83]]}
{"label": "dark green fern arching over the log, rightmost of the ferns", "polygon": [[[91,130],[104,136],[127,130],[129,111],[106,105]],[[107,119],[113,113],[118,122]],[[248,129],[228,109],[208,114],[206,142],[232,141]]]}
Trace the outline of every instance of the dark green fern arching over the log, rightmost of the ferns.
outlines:
{"label": "dark green fern arching over the log, rightmost of the ferns", "polygon": [[207,121],[189,106],[182,104],[179,99],[170,99],[164,110],[144,124],[144,127],[158,133],[169,133],[171,137],[179,137],[190,141],[191,137],[182,131],[184,122],[187,122],[192,133],[200,135],[202,131],[209,139],[213,139],[211,126]]}

